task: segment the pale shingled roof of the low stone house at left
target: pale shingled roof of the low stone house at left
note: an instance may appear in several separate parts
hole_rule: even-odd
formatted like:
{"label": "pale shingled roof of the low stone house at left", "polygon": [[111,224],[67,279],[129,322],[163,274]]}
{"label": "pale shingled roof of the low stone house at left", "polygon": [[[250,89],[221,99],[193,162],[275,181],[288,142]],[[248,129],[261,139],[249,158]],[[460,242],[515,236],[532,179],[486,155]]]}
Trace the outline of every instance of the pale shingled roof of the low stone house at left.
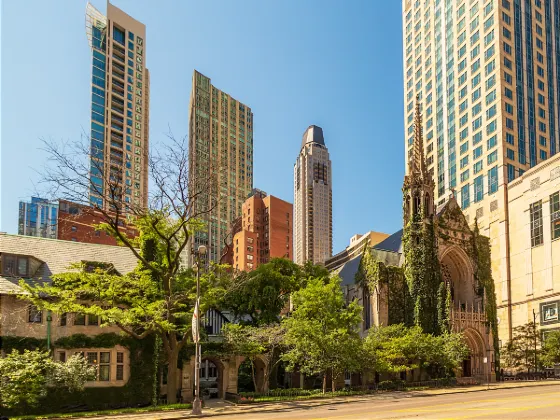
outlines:
{"label": "pale shingled roof of the low stone house at left", "polygon": [[[119,273],[133,271],[138,261],[126,247],[60,241],[33,236],[0,233],[0,253],[31,256],[41,264],[29,282],[46,282],[53,274],[71,271],[70,266],[82,261],[112,265]],[[19,279],[0,277],[0,294],[21,291]]]}

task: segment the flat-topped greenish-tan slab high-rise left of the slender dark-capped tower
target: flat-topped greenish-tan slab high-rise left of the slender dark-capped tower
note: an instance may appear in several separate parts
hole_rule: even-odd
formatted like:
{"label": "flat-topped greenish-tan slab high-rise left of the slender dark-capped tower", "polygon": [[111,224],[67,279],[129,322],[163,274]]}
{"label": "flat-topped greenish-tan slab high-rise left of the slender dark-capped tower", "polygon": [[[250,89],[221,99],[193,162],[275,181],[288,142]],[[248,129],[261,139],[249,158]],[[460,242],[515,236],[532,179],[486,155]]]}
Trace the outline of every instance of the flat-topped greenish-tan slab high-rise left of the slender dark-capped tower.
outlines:
{"label": "flat-topped greenish-tan slab high-rise left of the slender dark-capped tower", "polygon": [[191,188],[203,191],[195,209],[207,223],[191,248],[206,245],[209,260],[219,261],[253,188],[253,113],[197,71],[189,104],[189,173]]}

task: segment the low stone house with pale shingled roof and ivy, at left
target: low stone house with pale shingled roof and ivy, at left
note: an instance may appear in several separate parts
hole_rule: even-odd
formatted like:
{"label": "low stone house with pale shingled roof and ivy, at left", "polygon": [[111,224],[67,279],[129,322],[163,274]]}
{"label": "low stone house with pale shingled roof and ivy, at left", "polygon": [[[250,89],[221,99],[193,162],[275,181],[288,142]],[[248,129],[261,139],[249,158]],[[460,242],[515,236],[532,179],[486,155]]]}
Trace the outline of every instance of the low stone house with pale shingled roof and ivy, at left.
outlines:
{"label": "low stone house with pale shingled roof and ivy, at left", "polygon": [[[21,299],[25,291],[18,284],[20,279],[28,283],[50,282],[53,275],[100,266],[126,275],[137,263],[133,253],[122,246],[0,233],[0,357],[12,349],[35,348],[37,343],[49,347],[57,361],[82,353],[96,367],[97,376],[86,384],[84,400],[80,403],[104,403],[90,396],[93,395],[91,388],[111,388],[113,395],[122,393],[121,403],[150,403],[151,380],[145,381],[145,377],[153,377],[152,367],[146,367],[149,363],[145,363],[152,357],[153,342],[149,338],[131,339],[117,326],[102,328],[99,318],[92,315],[39,310]],[[220,340],[223,324],[233,321],[227,312],[211,310],[206,313],[202,325],[208,340]],[[73,345],[76,343],[92,345]],[[227,392],[237,393],[237,374],[243,361],[241,356],[216,357],[203,351],[201,386],[208,390],[209,396],[224,398]],[[193,355],[183,361],[178,372],[177,393],[183,401],[192,400],[194,369]],[[262,380],[262,374],[259,373],[257,380]],[[128,391],[130,387],[135,390],[133,394]],[[165,387],[161,389],[165,391]]]}

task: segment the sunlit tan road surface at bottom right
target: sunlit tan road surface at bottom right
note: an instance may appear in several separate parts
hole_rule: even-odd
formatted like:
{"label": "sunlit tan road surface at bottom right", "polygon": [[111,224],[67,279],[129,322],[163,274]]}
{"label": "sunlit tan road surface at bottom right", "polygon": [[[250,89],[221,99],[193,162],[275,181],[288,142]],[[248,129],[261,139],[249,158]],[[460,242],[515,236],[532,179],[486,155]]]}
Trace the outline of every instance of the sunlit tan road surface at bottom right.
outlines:
{"label": "sunlit tan road surface at bottom right", "polygon": [[217,418],[222,420],[560,419],[560,384],[429,397],[372,399]]}

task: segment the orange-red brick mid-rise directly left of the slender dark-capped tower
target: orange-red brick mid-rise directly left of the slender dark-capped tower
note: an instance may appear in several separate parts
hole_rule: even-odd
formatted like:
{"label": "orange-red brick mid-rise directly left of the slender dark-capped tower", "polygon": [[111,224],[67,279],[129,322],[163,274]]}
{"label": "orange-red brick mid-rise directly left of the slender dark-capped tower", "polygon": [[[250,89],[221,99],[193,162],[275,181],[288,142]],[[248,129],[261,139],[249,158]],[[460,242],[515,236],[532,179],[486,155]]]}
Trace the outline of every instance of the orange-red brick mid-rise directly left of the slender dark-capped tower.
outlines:
{"label": "orange-red brick mid-rise directly left of the slender dark-capped tower", "polygon": [[232,266],[251,271],[271,258],[292,259],[292,204],[254,189],[233,237]]}

